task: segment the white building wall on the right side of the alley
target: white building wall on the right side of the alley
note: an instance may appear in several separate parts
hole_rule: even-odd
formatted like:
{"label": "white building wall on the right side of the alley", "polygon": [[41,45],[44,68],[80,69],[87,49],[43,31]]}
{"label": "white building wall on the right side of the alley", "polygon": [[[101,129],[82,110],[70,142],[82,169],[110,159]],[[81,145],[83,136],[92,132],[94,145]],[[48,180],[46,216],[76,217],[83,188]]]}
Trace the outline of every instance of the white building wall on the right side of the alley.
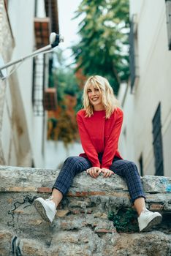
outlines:
{"label": "white building wall on the right side of the alley", "polygon": [[[138,165],[143,156],[144,174],[154,174],[152,119],[161,102],[164,175],[170,176],[171,144],[171,51],[167,47],[165,1],[130,0],[130,18],[137,15],[138,66],[140,79],[134,94],[119,92],[123,104],[126,139],[121,135],[121,152]],[[125,143],[126,140],[126,143]],[[134,149],[132,149],[134,148]],[[134,153],[132,153],[134,152]]]}

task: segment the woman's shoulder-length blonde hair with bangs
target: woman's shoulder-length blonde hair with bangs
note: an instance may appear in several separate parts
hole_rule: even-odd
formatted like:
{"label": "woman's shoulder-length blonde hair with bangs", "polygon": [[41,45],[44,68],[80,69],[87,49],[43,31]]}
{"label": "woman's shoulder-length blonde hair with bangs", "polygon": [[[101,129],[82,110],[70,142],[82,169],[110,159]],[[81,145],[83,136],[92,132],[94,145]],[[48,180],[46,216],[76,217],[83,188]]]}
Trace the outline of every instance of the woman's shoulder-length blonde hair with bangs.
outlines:
{"label": "woman's shoulder-length blonde hair with bangs", "polygon": [[88,99],[88,89],[90,86],[99,89],[102,95],[102,104],[104,105],[104,110],[106,110],[106,118],[110,118],[113,111],[118,107],[118,100],[115,98],[113,93],[113,88],[106,78],[100,75],[93,75],[86,81],[83,90],[83,105],[86,110],[86,117],[91,117],[94,114],[94,106]]}

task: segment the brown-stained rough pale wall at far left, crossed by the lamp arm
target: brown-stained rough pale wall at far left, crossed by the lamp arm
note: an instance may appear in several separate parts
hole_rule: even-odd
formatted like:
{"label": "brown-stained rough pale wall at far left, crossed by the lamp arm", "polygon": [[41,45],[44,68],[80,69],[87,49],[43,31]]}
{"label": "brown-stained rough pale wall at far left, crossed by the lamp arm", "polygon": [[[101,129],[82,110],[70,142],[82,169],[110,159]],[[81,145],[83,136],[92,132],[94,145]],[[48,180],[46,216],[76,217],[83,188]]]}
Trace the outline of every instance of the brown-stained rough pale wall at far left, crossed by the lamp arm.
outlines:
{"label": "brown-stained rough pale wall at far left, crossed by the lamp arm", "polygon": [[[0,1],[0,54],[7,63],[12,59],[15,39],[4,1]],[[23,143],[24,141],[24,143]],[[0,80],[0,164],[31,165],[30,143],[18,79],[12,75]]]}

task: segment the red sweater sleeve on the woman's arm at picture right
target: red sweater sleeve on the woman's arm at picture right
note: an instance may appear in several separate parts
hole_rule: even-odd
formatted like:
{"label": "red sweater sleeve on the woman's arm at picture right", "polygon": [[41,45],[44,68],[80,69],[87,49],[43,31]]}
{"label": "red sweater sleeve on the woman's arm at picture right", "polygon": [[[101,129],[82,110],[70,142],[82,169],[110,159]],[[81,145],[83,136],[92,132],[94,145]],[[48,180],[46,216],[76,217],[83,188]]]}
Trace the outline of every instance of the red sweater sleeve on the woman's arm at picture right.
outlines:
{"label": "red sweater sleeve on the woman's arm at picture right", "polygon": [[112,165],[113,157],[115,156],[115,151],[118,148],[118,139],[121,133],[121,127],[123,123],[123,112],[121,109],[115,110],[115,123],[113,124],[112,132],[110,133],[109,138],[107,139],[106,146],[104,148],[104,154],[102,157],[102,168],[110,168]]}

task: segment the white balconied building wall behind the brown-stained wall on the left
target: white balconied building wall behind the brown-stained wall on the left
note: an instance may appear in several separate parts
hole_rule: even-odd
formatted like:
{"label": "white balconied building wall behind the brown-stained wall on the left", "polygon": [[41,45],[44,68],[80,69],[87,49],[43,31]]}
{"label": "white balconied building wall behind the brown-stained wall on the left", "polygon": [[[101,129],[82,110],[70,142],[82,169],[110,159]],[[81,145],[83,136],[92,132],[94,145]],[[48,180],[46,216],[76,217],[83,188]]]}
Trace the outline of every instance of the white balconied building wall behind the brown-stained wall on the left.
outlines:
{"label": "white balconied building wall behind the brown-stained wall on the left", "polygon": [[[37,17],[45,17],[45,6],[43,0],[37,1]],[[12,60],[27,56],[35,50],[34,45],[34,0],[12,0],[8,4],[9,20],[12,26],[12,33],[15,38],[15,49],[12,54]],[[37,57],[43,61],[43,56]],[[42,67],[40,67],[43,69]],[[43,70],[40,70],[43,74]],[[26,113],[26,125],[28,127],[29,140],[31,142],[31,151],[35,167],[44,167],[44,142],[45,118],[43,116],[34,116],[32,105],[32,79],[33,79],[33,59],[28,59],[18,67],[18,83],[21,97],[23,99],[23,108]],[[40,84],[42,78],[39,78]]]}

